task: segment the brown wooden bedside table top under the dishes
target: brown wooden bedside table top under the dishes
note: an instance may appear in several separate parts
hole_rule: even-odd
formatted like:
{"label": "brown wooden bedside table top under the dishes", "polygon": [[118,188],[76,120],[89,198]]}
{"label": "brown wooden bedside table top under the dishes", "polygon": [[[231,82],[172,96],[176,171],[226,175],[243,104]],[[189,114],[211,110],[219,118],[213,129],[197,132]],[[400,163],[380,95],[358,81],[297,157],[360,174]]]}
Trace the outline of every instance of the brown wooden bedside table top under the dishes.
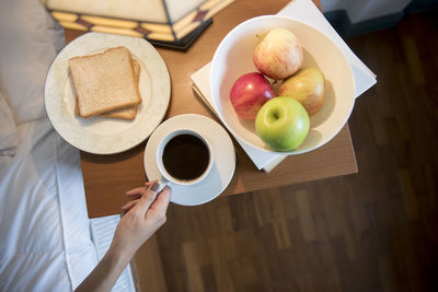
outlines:
{"label": "brown wooden bedside table top under the dishes", "polygon": [[[313,0],[321,9],[319,0]],[[189,77],[207,62],[220,40],[239,23],[264,14],[275,14],[289,0],[238,0],[214,16],[214,23],[187,52],[158,49],[163,57],[172,83],[172,95],[165,118],[181,114],[200,114],[217,118],[192,91]],[[70,42],[83,34],[66,31]],[[237,195],[264,188],[279,187],[308,180],[341,176],[357,172],[355,152],[348,125],[324,147],[307,154],[289,156],[270,173],[256,170],[244,151],[235,144],[234,177],[221,196]],[[143,170],[143,150],[140,145],[115,155],[95,155],[81,152],[82,175],[90,218],[116,214],[126,201],[124,192],[141,186],[147,179]]]}

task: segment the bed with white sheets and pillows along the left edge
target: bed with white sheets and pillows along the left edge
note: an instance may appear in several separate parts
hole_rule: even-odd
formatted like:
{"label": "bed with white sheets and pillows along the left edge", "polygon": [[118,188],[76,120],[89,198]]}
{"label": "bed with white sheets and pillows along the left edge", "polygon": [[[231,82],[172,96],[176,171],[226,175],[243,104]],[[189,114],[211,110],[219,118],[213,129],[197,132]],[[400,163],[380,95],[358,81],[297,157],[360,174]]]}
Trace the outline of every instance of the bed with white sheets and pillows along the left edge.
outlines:
{"label": "bed with white sheets and pillows along the left edge", "polygon": [[[79,151],[44,109],[64,39],[37,0],[0,1],[0,291],[74,290],[119,220],[88,218]],[[114,290],[134,290],[129,267]]]}

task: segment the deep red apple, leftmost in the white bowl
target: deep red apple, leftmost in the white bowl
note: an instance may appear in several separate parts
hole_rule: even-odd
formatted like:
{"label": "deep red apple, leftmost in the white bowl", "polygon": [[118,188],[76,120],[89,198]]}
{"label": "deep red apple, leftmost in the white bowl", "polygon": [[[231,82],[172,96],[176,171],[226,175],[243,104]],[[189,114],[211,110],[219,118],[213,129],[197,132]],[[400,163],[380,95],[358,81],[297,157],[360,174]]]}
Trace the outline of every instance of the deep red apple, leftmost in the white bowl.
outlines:
{"label": "deep red apple, leftmost in the white bowl", "polygon": [[240,77],[230,92],[235,113],[247,120],[254,120],[258,109],[274,96],[269,82],[258,72]]}

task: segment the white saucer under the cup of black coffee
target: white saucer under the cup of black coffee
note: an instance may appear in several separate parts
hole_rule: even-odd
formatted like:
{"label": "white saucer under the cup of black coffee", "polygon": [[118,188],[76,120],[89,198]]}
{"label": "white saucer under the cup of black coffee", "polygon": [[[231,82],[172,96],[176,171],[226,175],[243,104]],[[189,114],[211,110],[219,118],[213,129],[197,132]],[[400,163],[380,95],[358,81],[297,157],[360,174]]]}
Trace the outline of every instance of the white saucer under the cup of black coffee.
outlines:
{"label": "white saucer under the cup of black coffee", "polygon": [[145,171],[149,180],[160,179],[155,152],[161,139],[170,132],[188,129],[204,135],[214,151],[214,164],[207,177],[193,186],[172,185],[171,201],[196,206],[218,197],[230,184],[235,168],[234,145],[228,132],[215,120],[205,116],[186,114],[161,124],[151,135],[145,149]]}

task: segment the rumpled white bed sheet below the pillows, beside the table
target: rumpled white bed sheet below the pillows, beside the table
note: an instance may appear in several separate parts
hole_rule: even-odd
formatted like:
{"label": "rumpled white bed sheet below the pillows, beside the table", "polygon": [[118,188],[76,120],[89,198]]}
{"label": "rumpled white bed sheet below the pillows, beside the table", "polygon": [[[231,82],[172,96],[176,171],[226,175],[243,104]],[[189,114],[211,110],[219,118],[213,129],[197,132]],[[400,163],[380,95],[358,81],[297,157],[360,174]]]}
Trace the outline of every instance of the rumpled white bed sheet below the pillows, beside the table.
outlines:
{"label": "rumpled white bed sheet below the pillows, beside the table", "polygon": [[79,152],[47,118],[0,156],[0,291],[71,291],[97,264]]}

